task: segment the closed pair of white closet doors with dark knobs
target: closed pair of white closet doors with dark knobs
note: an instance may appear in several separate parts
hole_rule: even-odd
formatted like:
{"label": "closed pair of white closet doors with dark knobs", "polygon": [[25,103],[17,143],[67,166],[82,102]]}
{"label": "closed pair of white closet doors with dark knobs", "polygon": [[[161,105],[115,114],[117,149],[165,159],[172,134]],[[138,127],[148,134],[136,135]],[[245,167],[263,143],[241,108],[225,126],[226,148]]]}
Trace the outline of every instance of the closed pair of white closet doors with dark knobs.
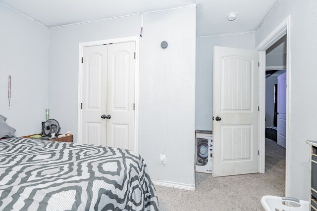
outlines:
{"label": "closed pair of white closet doors with dark knobs", "polygon": [[82,143],[134,150],[135,42],[84,47]]}

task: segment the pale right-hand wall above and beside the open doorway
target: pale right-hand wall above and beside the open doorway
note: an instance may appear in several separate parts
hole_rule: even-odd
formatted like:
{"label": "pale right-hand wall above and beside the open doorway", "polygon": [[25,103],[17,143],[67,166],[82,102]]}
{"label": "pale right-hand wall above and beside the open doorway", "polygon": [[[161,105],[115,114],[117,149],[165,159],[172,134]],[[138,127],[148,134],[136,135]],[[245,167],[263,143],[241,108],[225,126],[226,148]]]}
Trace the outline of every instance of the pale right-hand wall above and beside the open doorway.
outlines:
{"label": "pale right-hand wall above and beside the open doorway", "polygon": [[316,0],[282,0],[256,32],[261,43],[288,15],[291,15],[291,153],[287,169],[289,196],[309,199],[309,146],[306,140],[317,140],[317,22]]}

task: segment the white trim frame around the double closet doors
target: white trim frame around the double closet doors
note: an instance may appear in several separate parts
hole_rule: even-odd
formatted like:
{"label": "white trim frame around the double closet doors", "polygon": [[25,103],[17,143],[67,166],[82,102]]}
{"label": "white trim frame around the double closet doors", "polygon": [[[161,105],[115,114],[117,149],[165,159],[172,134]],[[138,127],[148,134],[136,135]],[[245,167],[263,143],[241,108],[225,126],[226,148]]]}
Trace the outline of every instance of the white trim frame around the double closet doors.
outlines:
{"label": "white trim frame around the double closet doors", "polygon": [[134,151],[139,152],[139,69],[140,69],[140,37],[125,37],[125,38],[116,38],[92,42],[80,42],[79,43],[79,56],[78,56],[78,126],[77,126],[77,143],[82,143],[81,138],[81,121],[82,121],[82,109],[80,107],[82,103],[82,80],[83,80],[83,64],[81,63],[81,58],[83,56],[84,47],[103,45],[106,43],[122,43],[122,42],[135,42],[135,83],[134,83]]}

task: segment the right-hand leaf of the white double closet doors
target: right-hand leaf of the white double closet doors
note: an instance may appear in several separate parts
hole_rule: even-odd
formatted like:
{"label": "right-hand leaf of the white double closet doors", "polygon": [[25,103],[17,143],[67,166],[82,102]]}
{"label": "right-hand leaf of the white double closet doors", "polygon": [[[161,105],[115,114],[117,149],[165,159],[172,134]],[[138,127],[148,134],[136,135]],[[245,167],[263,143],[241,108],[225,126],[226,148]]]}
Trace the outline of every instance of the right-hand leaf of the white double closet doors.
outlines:
{"label": "right-hand leaf of the white double closet doors", "polygon": [[108,45],[107,146],[134,150],[135,42]]}

